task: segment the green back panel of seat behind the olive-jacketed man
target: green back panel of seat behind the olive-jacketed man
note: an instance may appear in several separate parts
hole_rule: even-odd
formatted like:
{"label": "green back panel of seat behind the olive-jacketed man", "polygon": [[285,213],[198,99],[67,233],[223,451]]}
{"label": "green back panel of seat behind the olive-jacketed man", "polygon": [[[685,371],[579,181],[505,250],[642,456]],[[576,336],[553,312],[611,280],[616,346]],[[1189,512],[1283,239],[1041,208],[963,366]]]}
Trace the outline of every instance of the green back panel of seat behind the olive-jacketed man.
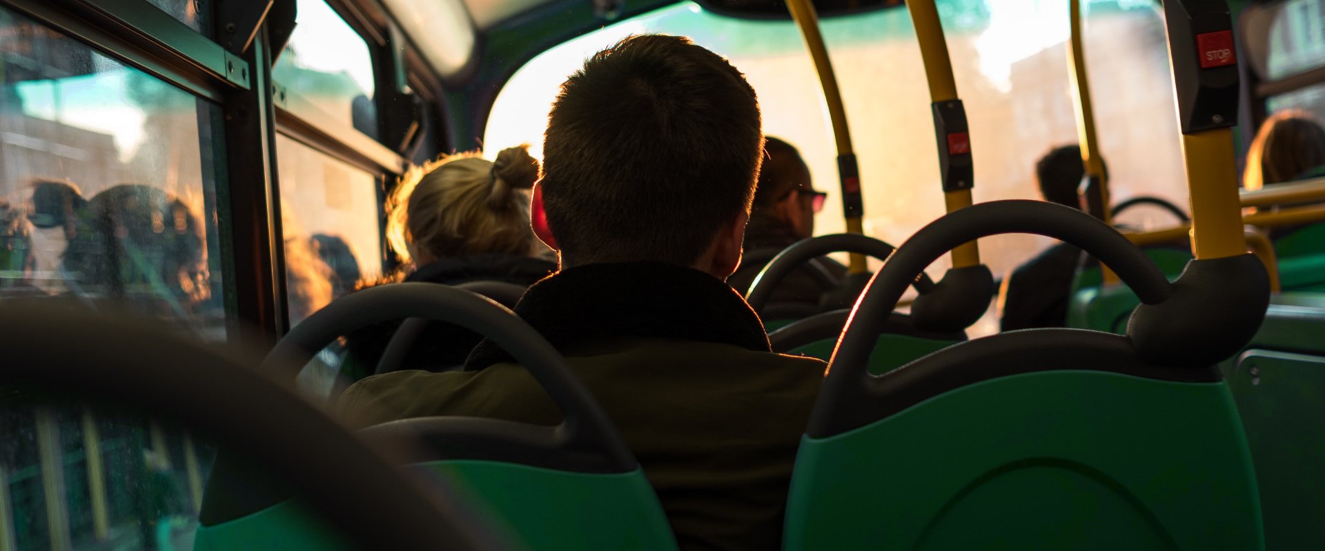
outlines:
{"label": "green back panel of seat behind the olive-jacketed man", "polygon": [[[572,473],[496,461],[420,465],[456,481],[488,518],[505,525],[526,548],[676,550],[662,506],[644,478],[631,473]],[[348,544],[297,501],[216,526],[199,527],[197,550],[347,550]]]}

